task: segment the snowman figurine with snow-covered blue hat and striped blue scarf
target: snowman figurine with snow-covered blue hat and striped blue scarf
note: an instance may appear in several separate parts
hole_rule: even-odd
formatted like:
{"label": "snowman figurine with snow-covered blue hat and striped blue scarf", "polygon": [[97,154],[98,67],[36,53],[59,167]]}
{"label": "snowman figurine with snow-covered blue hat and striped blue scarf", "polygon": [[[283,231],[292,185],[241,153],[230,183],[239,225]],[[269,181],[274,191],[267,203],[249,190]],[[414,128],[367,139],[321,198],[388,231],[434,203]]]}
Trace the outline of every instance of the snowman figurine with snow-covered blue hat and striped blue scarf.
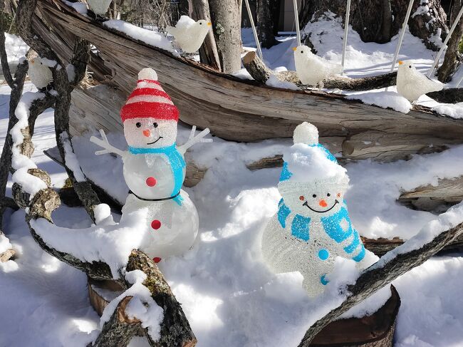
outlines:
{"label": "snowman figurine with snow-covered blue hat and striped blue scarf", "polygon": [[314,125],[298,125],[293,142],[283,153],[278,185],[283,198],[264,230],[262,254],[276,273],[301,272],[308,295],[318,296],[328,284],[335,257],[353,259],[360,269],[370,263],[343,199],[346,170],[318,143]]}

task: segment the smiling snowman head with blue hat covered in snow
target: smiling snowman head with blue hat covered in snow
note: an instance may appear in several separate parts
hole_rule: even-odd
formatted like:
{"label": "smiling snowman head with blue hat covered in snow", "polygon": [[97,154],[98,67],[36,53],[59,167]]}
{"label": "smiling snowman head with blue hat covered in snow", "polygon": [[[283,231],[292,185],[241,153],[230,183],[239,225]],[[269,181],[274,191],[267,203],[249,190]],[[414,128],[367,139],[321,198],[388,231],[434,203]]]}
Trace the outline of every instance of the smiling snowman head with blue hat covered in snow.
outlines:
{"label": "smiling snowman head with blue hat covered in snow", "polygon": [[349,183],[345,169],[318,143],[314,125],[298,125],[293,141],[294,145],[283,153],[278,185],[284,203],[292,212],[311,218],[338,212]]}

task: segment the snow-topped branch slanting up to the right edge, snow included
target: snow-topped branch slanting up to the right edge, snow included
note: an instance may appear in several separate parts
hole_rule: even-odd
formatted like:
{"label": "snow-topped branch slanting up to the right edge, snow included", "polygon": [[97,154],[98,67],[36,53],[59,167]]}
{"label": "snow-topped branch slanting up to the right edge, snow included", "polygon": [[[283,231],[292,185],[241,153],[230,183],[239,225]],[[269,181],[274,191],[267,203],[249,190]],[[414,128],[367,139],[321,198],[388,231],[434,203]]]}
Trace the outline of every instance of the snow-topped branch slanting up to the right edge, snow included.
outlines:
{"label": "snow-topped branch slanting up to the right edge, snow included", "polygon": [[[312,339],[331,321],[351,307],[405,274],[439,252],[446,244],[463,234],[463,202],[440,214],[404,244],[381,257],[357,279],[337,286],[335,294],[323,300],[299,347],[308,347]],[[333,290],[331,291],[333,292]],[[316,320],[316,321],[315,321]]]}

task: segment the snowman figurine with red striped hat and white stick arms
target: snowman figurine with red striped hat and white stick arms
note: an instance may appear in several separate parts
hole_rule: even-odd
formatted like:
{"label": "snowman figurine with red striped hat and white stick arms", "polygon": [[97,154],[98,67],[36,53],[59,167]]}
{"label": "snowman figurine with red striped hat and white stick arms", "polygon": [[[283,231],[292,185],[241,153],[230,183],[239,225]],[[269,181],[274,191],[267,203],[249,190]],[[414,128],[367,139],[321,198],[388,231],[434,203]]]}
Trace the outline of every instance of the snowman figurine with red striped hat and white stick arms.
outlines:
{"label": "snowman figurine with red striped hat and white stick arms", "polygon": [[113,152],[123,158],[124,179],[130,191],[121,221],[125,214],[147,207],[147,232],[140,249],[155,262],[187,252],[197,236],[199,219],[193,202],[182,190],[184,153],[195,143],[211,142],[204,139],[209,129],[195,137],[193,127],[187,143],[177,146],[179,111],[152,68],[140,71],[137,86],[120,116],[128,151],[110,145],[103,130],[103,140],[92,137],[90,141],[104,148],[96,155]]}

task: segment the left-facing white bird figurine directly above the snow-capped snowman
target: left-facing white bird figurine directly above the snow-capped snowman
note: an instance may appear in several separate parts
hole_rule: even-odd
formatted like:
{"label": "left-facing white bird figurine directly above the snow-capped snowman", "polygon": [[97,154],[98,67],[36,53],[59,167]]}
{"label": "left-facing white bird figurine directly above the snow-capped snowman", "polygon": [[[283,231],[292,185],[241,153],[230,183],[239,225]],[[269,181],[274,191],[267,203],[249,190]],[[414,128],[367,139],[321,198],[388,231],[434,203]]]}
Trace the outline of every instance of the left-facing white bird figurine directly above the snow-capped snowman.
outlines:
{"label": "left-facing white bird figurine directly above the snow-capped snowman", "polygon": [[296,73],[303,84],[319,85],[323,88],[321,81],[343,70],[340,64],[330,63],[325,58],[313,54],[308,46],[294,47],[293,51]]}

